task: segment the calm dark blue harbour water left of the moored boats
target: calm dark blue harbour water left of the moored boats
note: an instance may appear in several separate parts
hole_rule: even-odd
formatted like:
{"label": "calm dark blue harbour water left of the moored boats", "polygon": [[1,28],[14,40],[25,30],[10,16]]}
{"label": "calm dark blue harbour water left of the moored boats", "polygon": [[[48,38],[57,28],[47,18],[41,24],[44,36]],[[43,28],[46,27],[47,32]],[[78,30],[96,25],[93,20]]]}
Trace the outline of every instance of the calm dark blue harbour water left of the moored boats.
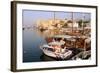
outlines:
{"label": "calm dark blue harbour water left of the moored boats", "polygon": [[36,28],[23,30],[23,62],[38,62],[55,60],[43,55],[40,45],[46,42],[43,35],[47,32],[40,32]]}

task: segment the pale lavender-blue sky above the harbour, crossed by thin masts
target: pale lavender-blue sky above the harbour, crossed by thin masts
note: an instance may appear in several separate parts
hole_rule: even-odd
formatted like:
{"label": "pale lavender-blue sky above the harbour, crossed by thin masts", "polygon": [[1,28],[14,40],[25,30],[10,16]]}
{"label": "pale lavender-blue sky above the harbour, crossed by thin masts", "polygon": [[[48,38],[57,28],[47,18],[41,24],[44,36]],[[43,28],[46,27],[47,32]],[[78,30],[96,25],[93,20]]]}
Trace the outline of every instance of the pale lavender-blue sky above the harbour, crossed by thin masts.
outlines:
{"label": "pale lavender-blue sky above the harbour, crossed by thin masts", "polygon": [[[23,12],[22,12],[23,27],[36,25],[37,20],[41,20],[41,19],[45,20],[45,19],[53,19],[53,18],[54,18],[54,11],[23,10]],[[57,18],[57,19],[72,19],[72,12],[56,11],[55,18]],[[80,20],[83,18],[85,20],[90,20],[91,14],[90,13],[73,12],[74,20]]]}

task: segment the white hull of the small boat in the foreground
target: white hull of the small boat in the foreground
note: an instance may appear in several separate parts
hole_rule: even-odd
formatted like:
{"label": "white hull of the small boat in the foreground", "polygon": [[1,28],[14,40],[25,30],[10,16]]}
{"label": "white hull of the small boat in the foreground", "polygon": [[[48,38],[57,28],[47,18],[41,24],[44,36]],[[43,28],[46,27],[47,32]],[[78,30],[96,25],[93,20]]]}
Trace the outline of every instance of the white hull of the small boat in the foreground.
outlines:
{"label": "white hull of the small boat in the foreground", "polygon": [[64,49],[62,52],[55,53],[53,47],[49,45],[43,45],[41,46],[41,49],[45,55],[53,58],[66,59],[72,55],[72,51],[67,49]]}

